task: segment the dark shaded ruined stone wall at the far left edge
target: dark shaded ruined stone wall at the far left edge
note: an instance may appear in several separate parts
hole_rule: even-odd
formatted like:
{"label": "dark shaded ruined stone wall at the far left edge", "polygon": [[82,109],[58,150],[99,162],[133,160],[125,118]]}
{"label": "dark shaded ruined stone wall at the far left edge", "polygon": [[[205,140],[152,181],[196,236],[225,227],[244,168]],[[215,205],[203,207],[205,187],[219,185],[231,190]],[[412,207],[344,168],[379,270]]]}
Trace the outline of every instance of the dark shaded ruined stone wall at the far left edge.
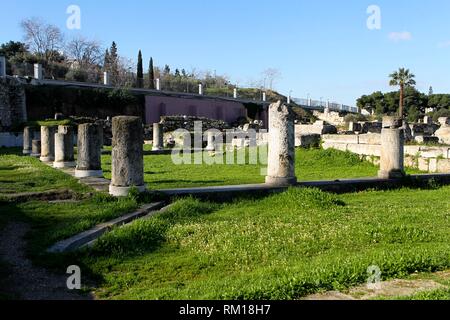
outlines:
{"label": "dark shaded ruined stone wall at the far left edge", "polygon": [[23,85],[13,78],[0,78],[0,131],[27,120]]}

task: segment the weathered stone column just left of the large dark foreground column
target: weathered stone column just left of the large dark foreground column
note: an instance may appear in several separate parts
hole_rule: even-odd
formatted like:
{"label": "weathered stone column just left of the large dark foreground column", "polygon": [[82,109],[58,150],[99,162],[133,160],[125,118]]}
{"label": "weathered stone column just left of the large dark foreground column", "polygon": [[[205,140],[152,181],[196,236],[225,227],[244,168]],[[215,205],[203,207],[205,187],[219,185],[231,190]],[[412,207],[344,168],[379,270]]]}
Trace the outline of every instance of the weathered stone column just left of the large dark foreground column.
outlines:
{"label": "weathered stone column just left of the large dark foreground column", "polygon": [[103,128],[95,123],[78,126],[78,157],[75,177],[102,177]]}

